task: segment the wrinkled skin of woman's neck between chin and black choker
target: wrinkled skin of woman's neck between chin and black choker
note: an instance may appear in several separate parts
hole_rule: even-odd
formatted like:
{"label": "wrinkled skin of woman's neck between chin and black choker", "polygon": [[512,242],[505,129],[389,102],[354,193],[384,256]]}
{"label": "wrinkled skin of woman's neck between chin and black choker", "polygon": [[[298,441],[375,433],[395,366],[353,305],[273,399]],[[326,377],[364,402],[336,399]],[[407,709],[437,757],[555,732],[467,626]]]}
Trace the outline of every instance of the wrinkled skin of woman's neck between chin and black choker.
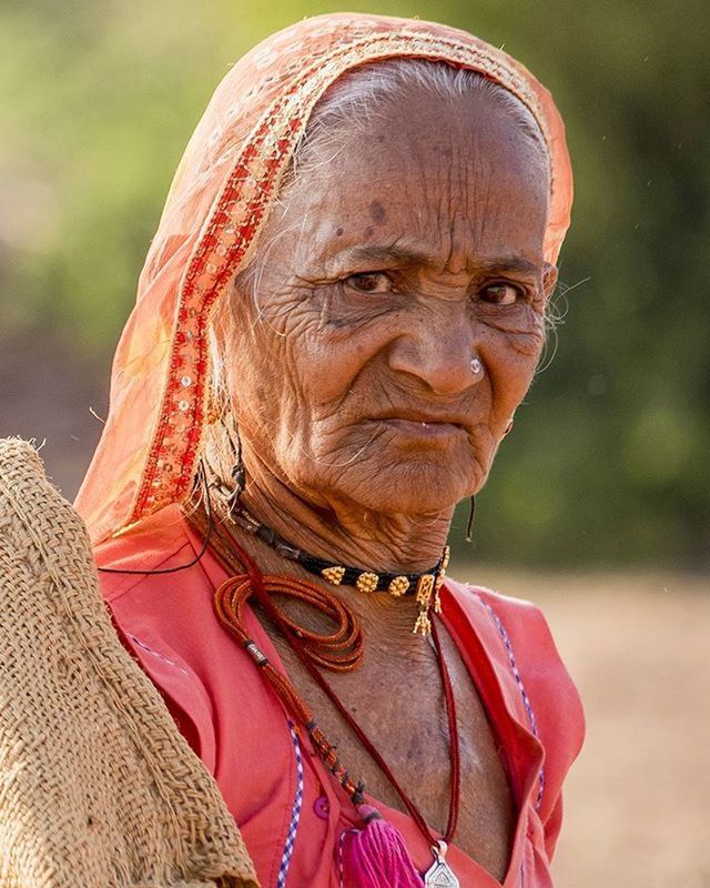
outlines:
{"label": "wrinkled skin of woman's neck between chin and black choker", "polygon": [[316,504],[258,460],[250,463],[241,496],[245,508],[312,555],[377,573],[418,573],[442,556],[453,508],[437,515],[396,515],[332,497]]}

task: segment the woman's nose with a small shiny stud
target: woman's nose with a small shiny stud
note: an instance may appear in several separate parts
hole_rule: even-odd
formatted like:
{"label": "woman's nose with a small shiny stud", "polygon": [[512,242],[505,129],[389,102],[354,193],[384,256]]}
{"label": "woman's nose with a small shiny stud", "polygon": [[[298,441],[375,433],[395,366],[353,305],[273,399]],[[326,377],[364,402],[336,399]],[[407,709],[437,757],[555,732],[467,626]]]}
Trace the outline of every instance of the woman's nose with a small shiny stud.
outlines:
{"label": "woman's nose with a small shiny stud", "polygon": [[455,395],[484,377],[485,365],[469,324],[422,322],[420,329],[398,336],[389,349],[389,366],[417,376],[438,395]]}

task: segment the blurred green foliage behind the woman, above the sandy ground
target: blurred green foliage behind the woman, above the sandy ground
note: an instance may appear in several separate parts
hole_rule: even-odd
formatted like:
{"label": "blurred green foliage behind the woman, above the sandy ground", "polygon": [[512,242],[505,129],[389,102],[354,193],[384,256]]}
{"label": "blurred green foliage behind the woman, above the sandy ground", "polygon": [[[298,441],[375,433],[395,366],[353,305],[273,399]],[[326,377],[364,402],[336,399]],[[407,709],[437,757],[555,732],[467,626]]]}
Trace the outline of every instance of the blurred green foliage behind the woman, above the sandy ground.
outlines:
{"label": "blurred green foliage behind the woman, above the sandy ground", "polygon": [[479,497],[474,554],[708,567],[707,0],[3,0],[0,347],[31,330],[40,346],[62,344],[78,377],[95,361],[108,376],[212,89],[270,32],[343,8],[505,44],[567,122],[577,200],[564,321]]}

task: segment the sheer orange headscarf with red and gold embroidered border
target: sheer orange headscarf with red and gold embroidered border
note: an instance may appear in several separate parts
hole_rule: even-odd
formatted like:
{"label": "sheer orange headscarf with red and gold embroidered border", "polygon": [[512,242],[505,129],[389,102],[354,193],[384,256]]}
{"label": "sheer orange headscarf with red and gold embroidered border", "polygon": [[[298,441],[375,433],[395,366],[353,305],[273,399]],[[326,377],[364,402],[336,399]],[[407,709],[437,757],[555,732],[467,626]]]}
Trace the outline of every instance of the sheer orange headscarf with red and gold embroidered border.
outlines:
{"label": "sheer orange headscarf with red and gold embroidered border", "polygon": [[109,417],[77,498],[94,543],[190,494],[211,391],[211,312],[257,249],[315,103],[344,72],[392,58],[478,71],[527,105],[550,158],[545,259],[556,262],[572,195],[565,130],[549,92],[521,64],[465,31],[378,16],[322,16],[264,40],[217,87],[141,273]]}

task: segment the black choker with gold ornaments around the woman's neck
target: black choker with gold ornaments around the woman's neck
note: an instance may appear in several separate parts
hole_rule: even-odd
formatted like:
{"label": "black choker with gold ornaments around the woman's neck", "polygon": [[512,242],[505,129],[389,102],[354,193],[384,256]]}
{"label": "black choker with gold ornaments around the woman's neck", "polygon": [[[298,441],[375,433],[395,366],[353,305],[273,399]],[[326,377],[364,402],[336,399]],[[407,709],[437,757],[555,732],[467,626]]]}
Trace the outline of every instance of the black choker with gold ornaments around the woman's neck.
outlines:
{"label": "black choker with gold ornaments around the woman's neck", "polygon": [[262,524],[241,503],[237,509],[230,513],[230,518],[284,558],[296,562],[311,574],[322,577],[333,586],[355,586],[356,589],[365,593],[386,592],[395,598],[402,595],[415,595],[418,605],[413,629],[415,635],[429,635],[432,632],[430,609],[433,608],[435,614],[442,612],[439,593],[448,566],[448,546],[444,546],[442,557],[434,567],[420,574],[375,573],[374,571],[363,571],[361,567],[316,558],[315,555],[291,545],[271,527]]}

